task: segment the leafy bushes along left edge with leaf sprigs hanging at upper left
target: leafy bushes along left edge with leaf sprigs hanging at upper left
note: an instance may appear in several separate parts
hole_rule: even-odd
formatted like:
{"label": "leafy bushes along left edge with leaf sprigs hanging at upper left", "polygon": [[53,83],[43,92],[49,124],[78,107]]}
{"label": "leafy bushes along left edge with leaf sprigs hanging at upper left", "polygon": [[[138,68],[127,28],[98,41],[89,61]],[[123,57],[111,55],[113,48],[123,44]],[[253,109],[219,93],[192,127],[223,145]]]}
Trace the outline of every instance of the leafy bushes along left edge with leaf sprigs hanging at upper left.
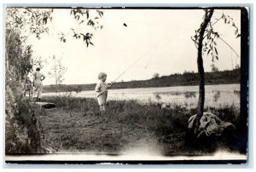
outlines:
{"label": "leafy bushes along left edge with leaf sprigs hanging at upper left", "polygon": [[[75,20],[79,14],[87,13],[87,26],[94,29],[102,26],[99,18],[89,18],[88,9],[70,9],[71,16]],[[22,97],[25,79],[33,66],[39,65],[40,61],[32,57],[32,45],[28,45],[26,39],[35,36],[38,39],[44,33],[49,33],[50,21],[53,20],[54,9],[36,8],[7,8],[5,23],[5,110],[6,110],[6,153],[38,153],[44,152],[44,144],[38,133],[38,120],[35,118],[40,115],[37,106],[32,106],[28,100]],[[96,14],[102,17],[102,10],[96,10]],[[99,25],[99,26],[97,26]],[[75,31],[72,28],[72,31]],[[61,42],[66,43],[65,33],[61,34]],[[81,37],[84,36],[84,37]],[[87,47],[93,45],[91,42],[92,33],[81,32],[81,38]],[[75,37],[75,36],[74,36]],[[76,37],[76,38],[79,38]],[[65,70],[64,70],[65,71]],[[57,78],[59,79],[59,78]],[[58,80],[60,81],[60,80]],[[36,111],[37,110],[37,111]]]}

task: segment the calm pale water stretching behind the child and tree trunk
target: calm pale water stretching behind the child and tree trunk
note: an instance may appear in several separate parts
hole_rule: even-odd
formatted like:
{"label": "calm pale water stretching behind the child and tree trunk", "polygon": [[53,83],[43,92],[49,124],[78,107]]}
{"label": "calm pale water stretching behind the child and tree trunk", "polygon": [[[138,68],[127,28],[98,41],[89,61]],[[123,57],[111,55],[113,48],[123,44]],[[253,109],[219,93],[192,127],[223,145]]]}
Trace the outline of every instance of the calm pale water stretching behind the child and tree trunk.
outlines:
{"label": "calm pale water stretching behind the child and tree trunk", "polygon": [[[205,106],[234,105],[240,107],[240,84],[206,85]],[[47,93],[43,95],[55,95]],[[78,97],[96,98],[95,91],[82,91]],[[198,86],[178,86],[143,89],[109,89],[108,100],[137,100],[140,103],[159,102],[195,107]]]}

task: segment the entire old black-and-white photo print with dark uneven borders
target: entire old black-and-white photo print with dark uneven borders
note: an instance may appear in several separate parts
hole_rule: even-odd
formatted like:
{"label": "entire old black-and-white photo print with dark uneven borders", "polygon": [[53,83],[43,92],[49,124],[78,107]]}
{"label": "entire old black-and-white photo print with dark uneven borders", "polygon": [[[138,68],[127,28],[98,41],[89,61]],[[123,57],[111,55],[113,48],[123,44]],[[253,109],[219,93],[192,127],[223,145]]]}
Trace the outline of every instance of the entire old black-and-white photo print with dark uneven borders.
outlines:
{"label": "entire old black-and-white photo print with dark uneven borders", "polygon": [[6,163],[247,163],[246,7],[6,7]]}

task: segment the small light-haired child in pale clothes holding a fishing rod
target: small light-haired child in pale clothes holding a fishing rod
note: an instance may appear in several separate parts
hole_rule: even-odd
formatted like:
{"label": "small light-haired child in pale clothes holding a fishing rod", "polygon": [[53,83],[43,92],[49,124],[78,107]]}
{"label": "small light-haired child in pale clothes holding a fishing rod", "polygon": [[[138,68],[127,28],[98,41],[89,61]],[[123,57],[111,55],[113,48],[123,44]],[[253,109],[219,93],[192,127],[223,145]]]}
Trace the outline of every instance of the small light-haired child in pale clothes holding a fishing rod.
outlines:
{"label": "small light-haired child in pale clothes holding a fishing rod", "polygon": [[107,74],[104,72],[100,72],[98,75],[99,83],[96,84],[96,97],[100,106],[100,111],[106,111],[107,105],[107,97],[108,97],[108,89],[113,85],[113,83],[105,83],[107,80]]}

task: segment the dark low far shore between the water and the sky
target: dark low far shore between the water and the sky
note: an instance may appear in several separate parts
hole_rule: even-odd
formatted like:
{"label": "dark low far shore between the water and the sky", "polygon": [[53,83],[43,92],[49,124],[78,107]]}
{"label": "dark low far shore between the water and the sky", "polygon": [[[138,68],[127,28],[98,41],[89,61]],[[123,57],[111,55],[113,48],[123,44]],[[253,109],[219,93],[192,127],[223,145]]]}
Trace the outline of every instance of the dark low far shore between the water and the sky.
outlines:
{"label": "dark low far shore between the water and the sky", "polygon": [[[235,84],[241,83],[241,71],[235,69],[223,72],[206,72],[205,84]],[[199,84],[198,73],[184,72],[183,74],[172,74],[170,76],[154,77],[148,80],[137,80],[114,83],[112,89],[140,89],[140,88],[160,88],[177,86],[196,86]],[[89,84],[62,84],[60,92],[67,91],[68,87],[80,88],[81,91],[94,90],[96,83]],[[54,93],[55,85],[44,85],[44,93]]]}

